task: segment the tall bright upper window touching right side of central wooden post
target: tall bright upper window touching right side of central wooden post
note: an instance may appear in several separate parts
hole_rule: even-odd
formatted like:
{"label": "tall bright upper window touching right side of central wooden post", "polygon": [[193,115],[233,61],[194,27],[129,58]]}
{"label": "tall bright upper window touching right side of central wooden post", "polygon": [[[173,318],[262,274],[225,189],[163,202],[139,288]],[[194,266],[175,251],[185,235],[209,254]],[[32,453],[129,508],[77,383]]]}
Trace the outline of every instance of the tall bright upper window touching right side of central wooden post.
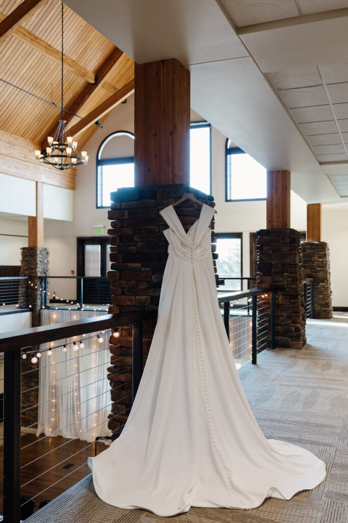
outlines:
{"label": "tall bright upper window touching right side of central wooden post", "polygon": [[211,194],[211,125],[191,123],[190,187]]}

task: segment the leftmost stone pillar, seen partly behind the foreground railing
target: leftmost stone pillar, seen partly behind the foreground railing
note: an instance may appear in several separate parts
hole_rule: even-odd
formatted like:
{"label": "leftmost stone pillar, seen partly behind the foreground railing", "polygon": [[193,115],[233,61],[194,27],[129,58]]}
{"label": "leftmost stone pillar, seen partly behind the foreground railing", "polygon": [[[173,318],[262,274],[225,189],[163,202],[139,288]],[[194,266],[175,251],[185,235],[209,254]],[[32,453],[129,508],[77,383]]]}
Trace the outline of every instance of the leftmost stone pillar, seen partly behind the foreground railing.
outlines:
{"label": "leftmost stone pillar, seen partly behind the foreground railing", "polygon": [[[44,305],[44,281],[43,277],[49,274],[49,252],[46,247],[22,247],[20,276],[28,276],[28,306],[31,310],[32,327],[39,327],[40,309]],[[33,350],[39,350],[39,347],[32,347]],[[38,366],[39,364],[37,364]],[[30,358],[22,360],[22,372],[32,370],[33,365]],[[38,366],[39,368],[39,366]],[[22,409],[38,404],[39,371],[22,374],[22,390],[28,390],[22,394]],[[31,389],[31,390],[29,390]],[[22,426],[27,427],[37,423],[38,408],[22,413]]]}

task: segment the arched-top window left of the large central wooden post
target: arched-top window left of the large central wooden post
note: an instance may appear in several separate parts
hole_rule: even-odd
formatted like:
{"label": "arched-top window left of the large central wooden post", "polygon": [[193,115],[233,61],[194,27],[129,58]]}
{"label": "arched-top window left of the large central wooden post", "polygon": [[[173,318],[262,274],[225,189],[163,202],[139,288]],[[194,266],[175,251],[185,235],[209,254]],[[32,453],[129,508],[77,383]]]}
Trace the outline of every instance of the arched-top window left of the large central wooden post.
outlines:
{"label": "arched-top window left of the large central wooden post", "polygon": [[97,153],[97,208],[110,207],[110,192],[134,187],[134,134],[109,134]]}

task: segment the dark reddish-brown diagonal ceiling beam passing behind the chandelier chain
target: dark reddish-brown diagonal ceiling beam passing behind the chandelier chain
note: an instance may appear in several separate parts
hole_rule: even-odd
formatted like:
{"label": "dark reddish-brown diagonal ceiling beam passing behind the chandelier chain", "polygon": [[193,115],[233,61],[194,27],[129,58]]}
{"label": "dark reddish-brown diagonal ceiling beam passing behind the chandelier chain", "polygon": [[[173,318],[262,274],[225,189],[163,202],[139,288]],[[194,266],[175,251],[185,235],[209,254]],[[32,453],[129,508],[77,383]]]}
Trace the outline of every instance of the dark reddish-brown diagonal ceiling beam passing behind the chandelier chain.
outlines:
{"label": "dark reddish-brown diagonal ceiling beam passing behind the chandelier chain", "polygon": [[[69,111],[65,112],[64,115],[67,124],[74,118],[74,114],[77,114],[78,111],[82,109],[82,107],[86,104],[90,96],[92,96],[92,94],[94,94],[97,91],[97,89],[102,88],[102,84],[105,77],[112,71],[113,67],[117,64],[118,60],[121,58],[122,55],[123,52],[120,49],[118,49],[118,47],[115,47],[95,73],[95,83],[87,84],[85,87],[83,87],[81,92],[74,98],[71,104],[68,107],[66,107],[66,109]],[[52,126],[51,131],[47,133],[47,136],[53,136],[56,127],[57,121],[54,123],[54,126]],[[47,141],[45,138],[42,143],[42,150],[46,146]]]}

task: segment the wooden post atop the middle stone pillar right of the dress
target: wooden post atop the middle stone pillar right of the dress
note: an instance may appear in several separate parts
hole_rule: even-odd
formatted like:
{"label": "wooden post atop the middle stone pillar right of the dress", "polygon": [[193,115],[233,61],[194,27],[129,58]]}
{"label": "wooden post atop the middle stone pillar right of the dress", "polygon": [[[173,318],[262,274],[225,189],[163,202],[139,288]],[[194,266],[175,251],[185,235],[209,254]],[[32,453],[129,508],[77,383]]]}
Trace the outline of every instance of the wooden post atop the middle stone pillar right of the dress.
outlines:
{"label": "wooden post atop the middle stone pillar right of the dress", "polygon": [[267,229],[290,229],[290,172],[267,171]]}

